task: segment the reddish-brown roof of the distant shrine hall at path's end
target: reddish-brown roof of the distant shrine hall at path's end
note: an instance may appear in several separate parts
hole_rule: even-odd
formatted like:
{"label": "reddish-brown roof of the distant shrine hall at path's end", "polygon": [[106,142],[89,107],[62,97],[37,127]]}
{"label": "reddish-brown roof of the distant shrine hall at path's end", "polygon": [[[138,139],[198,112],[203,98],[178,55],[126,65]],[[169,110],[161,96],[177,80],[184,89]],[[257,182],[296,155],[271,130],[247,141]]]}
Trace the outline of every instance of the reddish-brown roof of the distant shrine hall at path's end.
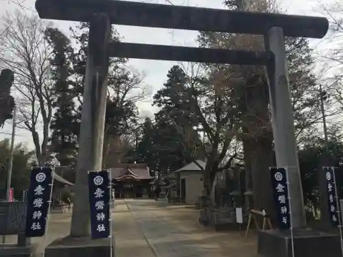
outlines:
{"label": "reddish-brown roof of the distant shrine hall at path's end", "polygon": [[116,168],[110,169],[113,180],[152,180],[147,164],[118,164]]}

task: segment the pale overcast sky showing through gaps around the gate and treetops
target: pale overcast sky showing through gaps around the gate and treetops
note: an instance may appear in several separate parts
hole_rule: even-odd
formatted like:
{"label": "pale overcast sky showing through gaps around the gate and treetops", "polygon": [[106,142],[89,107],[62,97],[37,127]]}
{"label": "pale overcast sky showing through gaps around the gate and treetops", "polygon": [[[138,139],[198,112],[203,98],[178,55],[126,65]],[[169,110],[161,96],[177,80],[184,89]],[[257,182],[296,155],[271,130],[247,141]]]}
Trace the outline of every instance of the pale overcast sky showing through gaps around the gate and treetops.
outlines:
{"label": "pale overcast sky showing through gaps around the gate and treetops", "polygon": [[[5,14],[6,11],[13,12],[18,5],[16,2],[21,3],[27,14],[35,14],[34,2],[35,0],[0,0],[1,10],[0,15]],[[96,0],[95,0],[96,1]],[[120,1],[120,0],[113,0]],[[322,0],[322,3],[330,0]],[[151,0],[145,1],[151,3],[165,3],[165,0]],[[190,5],[206,8],[224,8],[222,0],[173,0],[176,5]],[[311,0],[284,0],[278,3],[283,10],[286,10],[288,14],[301,14],[301,15],[320,15],[314,12],[314,8],[318,5],[318,2]],[[1,23],[1,19],[0,19]],[[66,21],[54,21],[54,26],[60,28],[64,32],[68,32],[70,26],[74,26],[76,23]],[[0,27],[0,33],[3,27]],[[152,29],[144,27],[128,27],[128,26],[116,26],[117,31],[125,42],[142,42],[153,43],[158,45],[182,45],[182,46],[196,46],[197,32],[172,30],[172,29]],[[317,45],[318,40],[312,42],[312,45]],[[174,64],[173,62],[154,61],[154,60],[130,60],[130,66],[134,67],[141,72],[145,73],[145,83],[150,86],[152,93],[161,88],[166,79],[167,71]],[[152,116],[154,108],[151,106],[150,99],[147,99],[144,103],[139,103],[139,110],[143,116]],[[0,140],[5,137],[10,137],[11,133],[10,122],[0,128]],[[29,132],[25,130],[17,129],[16,131],[16,143],[23,142],[28,147],[32,148],[32,137]]]}

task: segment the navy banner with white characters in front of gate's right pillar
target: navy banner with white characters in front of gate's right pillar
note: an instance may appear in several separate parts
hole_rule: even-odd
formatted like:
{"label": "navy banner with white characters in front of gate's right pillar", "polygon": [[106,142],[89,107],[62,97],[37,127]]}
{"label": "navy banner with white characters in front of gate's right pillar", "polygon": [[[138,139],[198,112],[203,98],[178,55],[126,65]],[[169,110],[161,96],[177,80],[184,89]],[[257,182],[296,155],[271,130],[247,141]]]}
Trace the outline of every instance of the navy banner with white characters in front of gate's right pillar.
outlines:
{"label": "navy banner with white characters in front of gate's right pillar", "polygon": [[287,171],[285,168],[276,167],[270,168],[270,171],[278,225],[281,230],[287,230],[291,227]]}

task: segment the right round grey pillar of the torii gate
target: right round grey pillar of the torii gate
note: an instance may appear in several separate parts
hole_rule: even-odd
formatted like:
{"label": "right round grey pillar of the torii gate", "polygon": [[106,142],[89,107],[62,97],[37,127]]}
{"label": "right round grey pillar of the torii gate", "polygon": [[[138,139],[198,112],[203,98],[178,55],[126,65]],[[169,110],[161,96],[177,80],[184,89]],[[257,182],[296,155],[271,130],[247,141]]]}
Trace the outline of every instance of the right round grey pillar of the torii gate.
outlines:
{"label": "right round grey pillar of the torii gate", "polygon": [[293,228],[303,228],[306,225],[303,188],[289,90],[285,36],[281,27],[270,29],[268,36],[265,37],[265,47],[274,54],[274,61],[268,66],[268,77],[276,165],[277,167],[286,167],[288,170]]}

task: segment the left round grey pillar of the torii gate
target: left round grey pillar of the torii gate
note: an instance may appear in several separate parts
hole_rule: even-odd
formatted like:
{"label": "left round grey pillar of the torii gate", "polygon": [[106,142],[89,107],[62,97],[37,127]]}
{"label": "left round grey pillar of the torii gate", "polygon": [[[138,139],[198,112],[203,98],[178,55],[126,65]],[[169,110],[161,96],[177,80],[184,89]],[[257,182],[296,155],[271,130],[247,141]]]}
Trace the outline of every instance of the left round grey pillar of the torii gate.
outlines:
{"label": "left round grey pillar of the torii gate", "polygon": [[93,14],[89,29],[80,149],[71,219],[70,234],[73,237],[86,237],[90,234],[87,171],[102,169],[109,40],[110,21],[107,14]]}

